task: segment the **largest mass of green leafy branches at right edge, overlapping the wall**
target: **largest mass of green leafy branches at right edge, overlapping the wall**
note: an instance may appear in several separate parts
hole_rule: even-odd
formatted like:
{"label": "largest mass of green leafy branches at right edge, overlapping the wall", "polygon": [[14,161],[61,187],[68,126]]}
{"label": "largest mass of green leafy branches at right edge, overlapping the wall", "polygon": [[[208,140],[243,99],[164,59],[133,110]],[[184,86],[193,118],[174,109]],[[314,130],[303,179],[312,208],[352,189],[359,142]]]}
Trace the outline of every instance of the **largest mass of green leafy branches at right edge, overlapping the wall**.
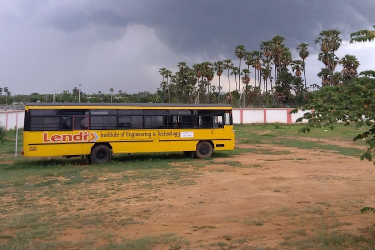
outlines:
{"label": "largest mass of green leafy branches at right edge, overlapping the wall", "polygon": [[[297,121],[307,119],[308,124],[300,131],[309,131],[307,127],[327,126],[333,128],[337,122],[357,126],[371,126],[375,120],[375,79],[369,77],[354,78],[344,85],[324,86],[312,94],[312,99],[302,109],[306,112]],[[295,111],[295,110],[294,110]],[[368,145],[361,156],[372,160],[375,148],[375,125],[367,131],[357,134],[354,140],[364,139]]]}

